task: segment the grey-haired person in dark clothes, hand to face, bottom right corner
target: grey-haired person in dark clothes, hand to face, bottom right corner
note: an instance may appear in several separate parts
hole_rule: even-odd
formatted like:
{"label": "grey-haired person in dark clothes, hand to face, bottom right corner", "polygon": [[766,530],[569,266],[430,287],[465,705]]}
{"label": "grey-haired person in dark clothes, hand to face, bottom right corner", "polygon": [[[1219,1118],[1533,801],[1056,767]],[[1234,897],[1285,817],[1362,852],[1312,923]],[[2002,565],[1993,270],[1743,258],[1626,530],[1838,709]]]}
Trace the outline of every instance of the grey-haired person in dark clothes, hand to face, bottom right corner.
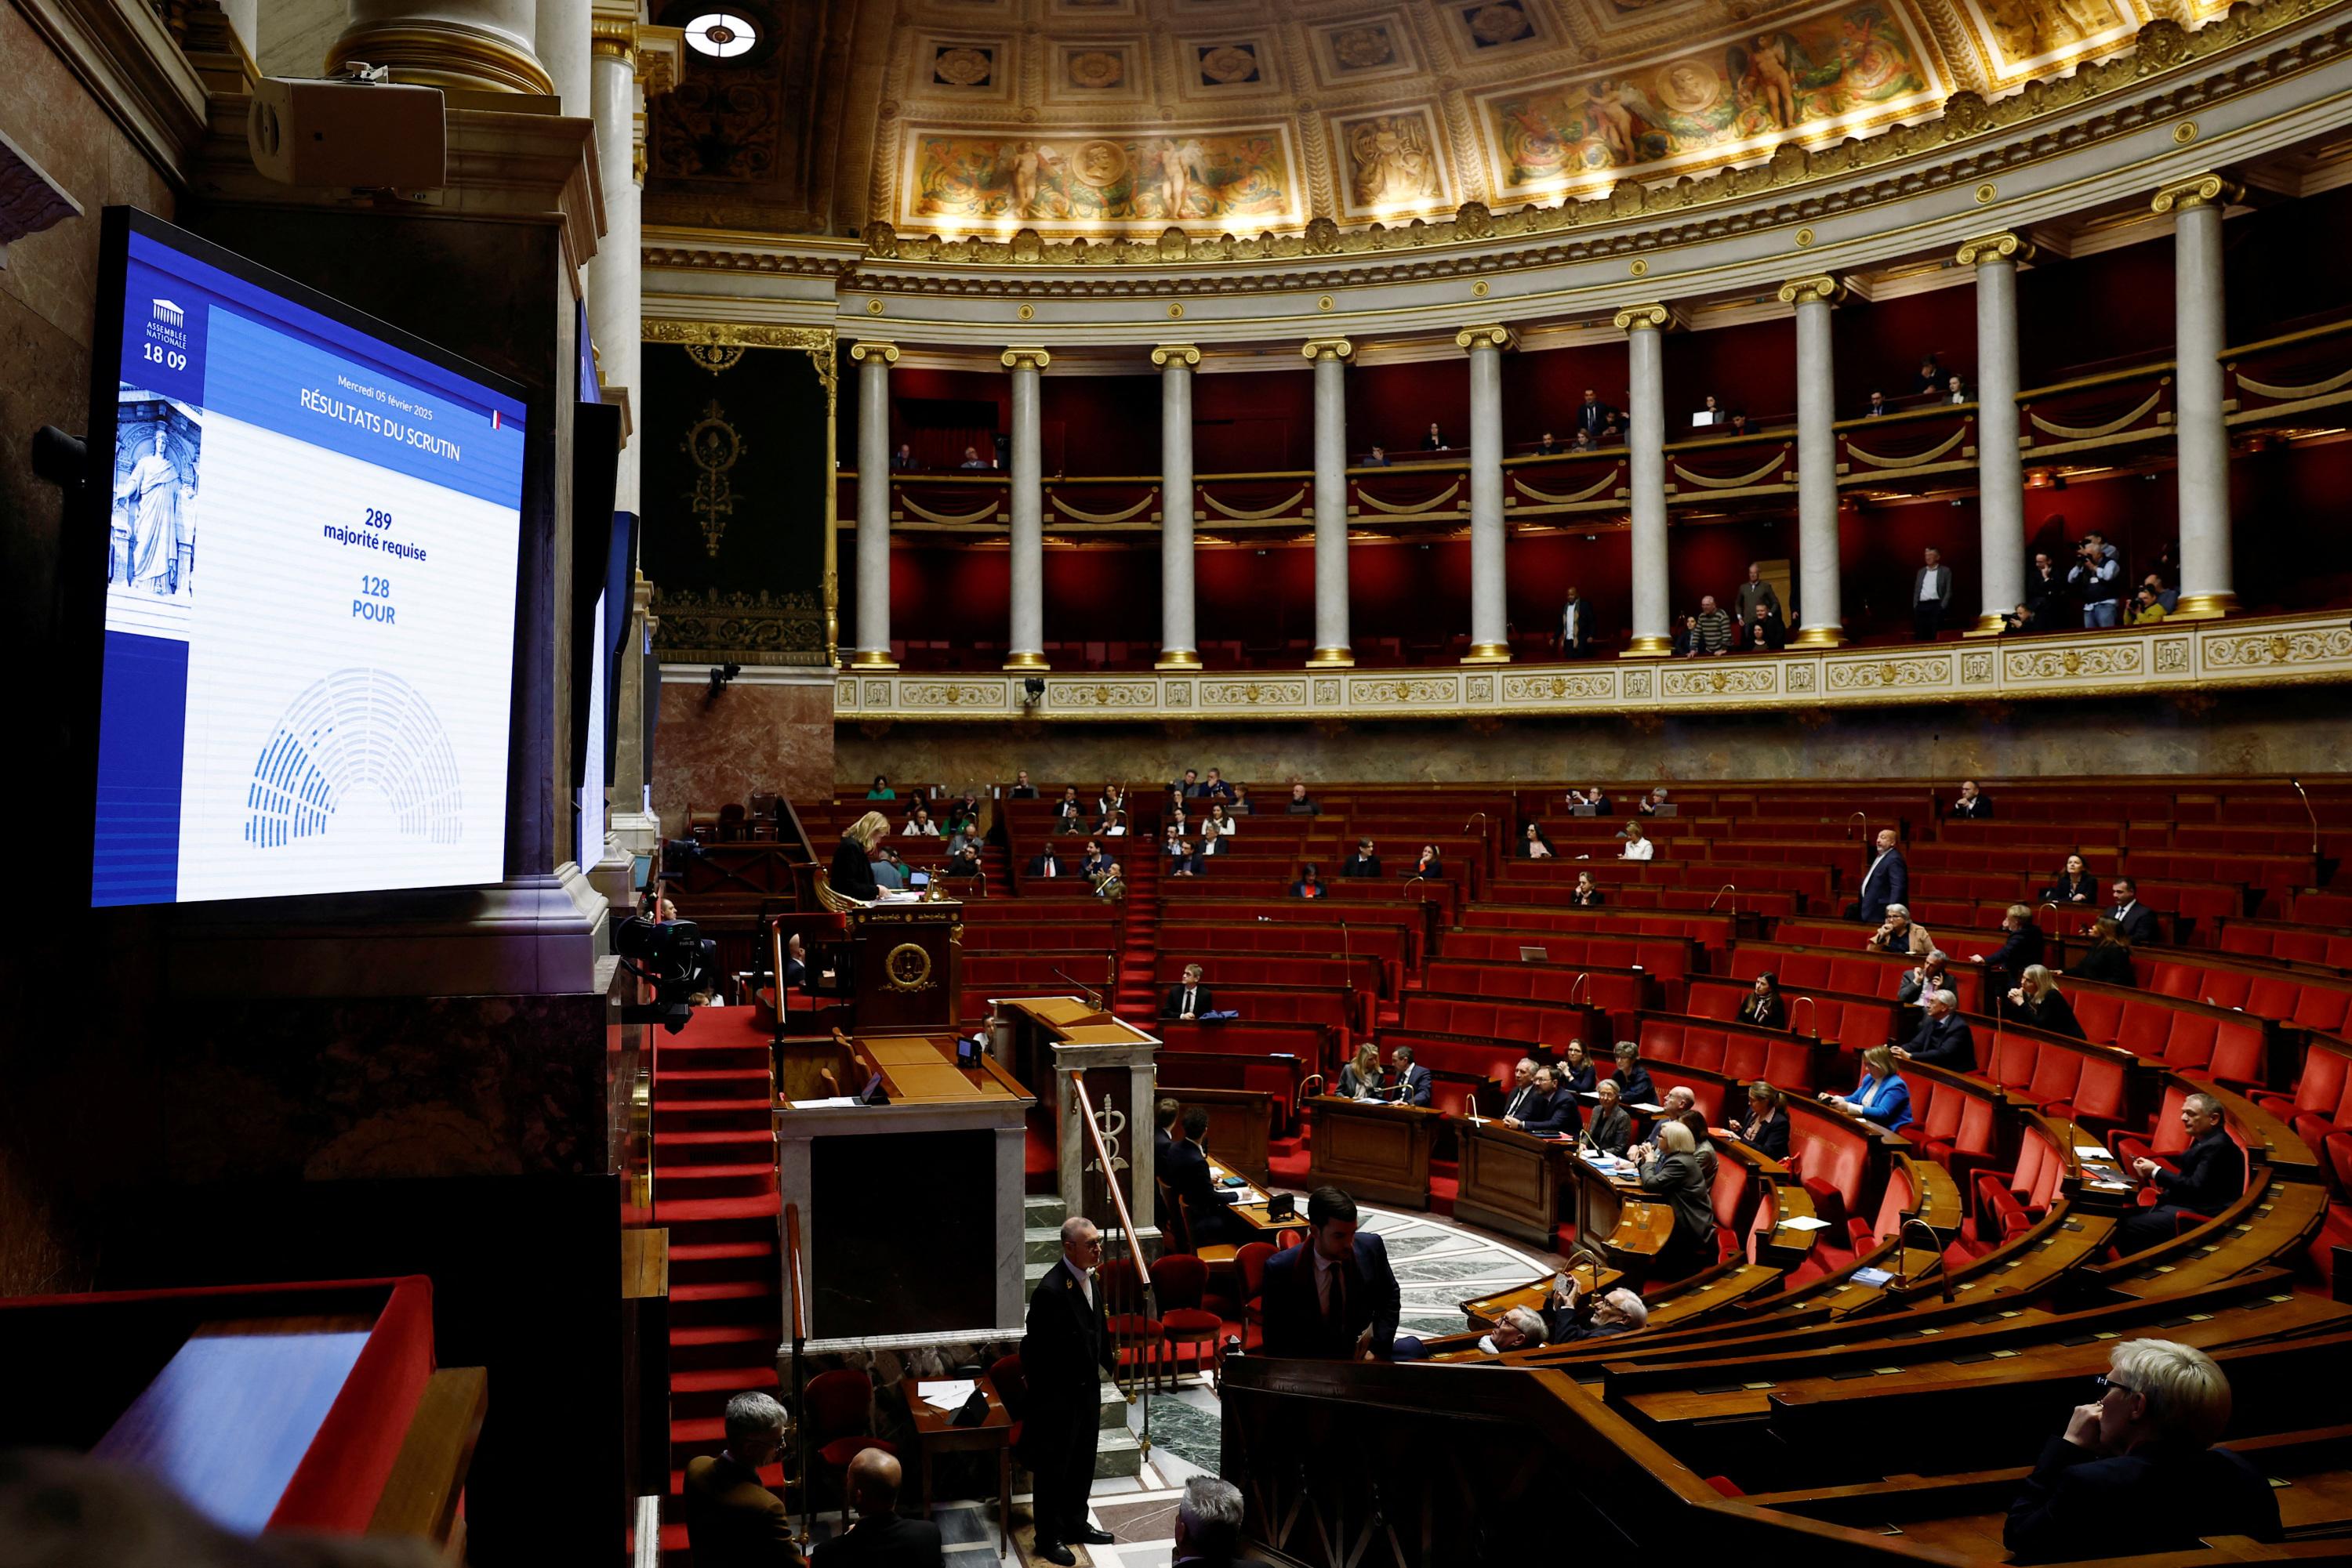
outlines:
{"label": "grey-haired person in dark clothes, hand to face, bottom right corner", "polygon": [[2230,1380],[2209,1354],[2122,1340],[2093,1389],[2009,1505],[2011,1561],[2199,1552],[2218,1535],[2284,1540],[2267,1474],[2213,1446],[2230,1425]]}

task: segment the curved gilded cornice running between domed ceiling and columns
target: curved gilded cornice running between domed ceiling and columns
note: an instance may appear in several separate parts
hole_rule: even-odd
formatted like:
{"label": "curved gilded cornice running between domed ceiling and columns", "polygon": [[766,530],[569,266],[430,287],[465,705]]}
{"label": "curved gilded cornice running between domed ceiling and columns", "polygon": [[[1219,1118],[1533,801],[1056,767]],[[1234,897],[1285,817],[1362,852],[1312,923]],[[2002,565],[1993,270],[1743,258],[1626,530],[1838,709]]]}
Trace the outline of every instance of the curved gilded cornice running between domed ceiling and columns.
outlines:
{"label": "curved gilded cornice running between domed ceiling and columns", "polygon": [[[2004,169],[2074,153],[2093,141],[2133,134],[2150,122],[2204,110],[2213,99],[2326,63],[2352,45],[2352,21],[2298,38],[2260,56],[2230,61],[2211,75],[2173,80],[2159,92],[2145,92],[2154,78],[2185,78],[2185,68],[2197,61],[2244,49],[2267,33],[2338,5],[2340,0],[2260,0],[2258,5],[2237,5],[2227,16],[2218,16],[2194,33],[2176,21],[2157,19],[2138,31],[2133,52],[2084,66],[2067,78],[2027,82],[2020,92],[1992,103],[1976,92],[1955,92],[1936,120],[1903,125],[1867,139],[1846,139],[1818,150],[1785,143],[1757,165],[1656,186],[1621,183],[1609,195],[1555,207],[1526,205],[1496,214],[1484,202],[1463,202],[1451,221],[1414,219],[1397,228],[1383,223],[1341,228],[1319,216],[1301,235],[1192,237],[1183,230],[1169,230],[1150,240],[1112,237],[1098,242],[1042,242],[1035,230],[1021,230],[1009,240],[936,240],[898,235],[889,223],[868,223],[863,263],[842,287],[868,294],[983,296],[1287,292],[1557,266],[1804,223],[1903,200],[1945,183],[1983,181]],[[2096,113],[2079,118],[2086,108]],[[1966,146],[1962,148],[1962,143]],[[1957,155],[1900,174],[1889,169],[1884,179],[1867,183],[1842,186],[1856,174],[1933,158],[1945,148],[1957,148]],[[1703,212],[1700,216],[1693,209],[1722,212]],[[1679,221],[1682,214],[1691,214],[1691,219]],[[1569,230],[1625,226],[1642,219],[1663,219],[1665,223],[1613,228],[1613,233],[1590,240],[1566,237]],[[1526,242],[1508,244],[1517,237]],[[1494,249],[1498,240],[1505,242],[1503,249]],[[1388,252],[1411,252],[1411,256],[1378,261]],[[1265,263],[1270,261],[1308,266],[1268,273]],[[931,273],[929,266],[941,270]],[[1018,275],[1035,266],[1136,268],[1138,273],[1150,268],[1157,275],[1150,280]],[[974,275],[974,268],[1004,270]],[[1169,277],[1169,268],[1185,273]]]}

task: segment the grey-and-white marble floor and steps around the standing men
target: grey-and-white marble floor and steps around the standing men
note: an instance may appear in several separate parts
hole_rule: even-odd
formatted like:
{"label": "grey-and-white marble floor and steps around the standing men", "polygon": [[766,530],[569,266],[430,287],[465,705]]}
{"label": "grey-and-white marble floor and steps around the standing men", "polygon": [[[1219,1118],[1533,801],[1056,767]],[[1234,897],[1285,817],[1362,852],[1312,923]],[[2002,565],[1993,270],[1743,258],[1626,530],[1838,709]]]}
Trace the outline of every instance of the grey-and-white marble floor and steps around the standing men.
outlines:
{"label": "grey-and-white marble floor and steps around the standing men", "polygon": [[[1437,1215],[1367,1204],[1364,1229],[1381,1234],[1397,1269],[1397,1288],[1404,1295],[1397,1333],[1458,1333],[1465,1326],[1463,1300],[1524,1286],[1555,1267],[1550,1255]],[[1183,1497],[1185,1479],[1218,1469],[1218,1399],[1207,1375],[1185,1375],[1174,1392],[1150,1394],[1148,1406],[1145,1401],[1129,1406],[1127,1425],[1136,1436],[1145,1436],[1145,1418],[1150,1448],[1143,1474],[1094,1483],[1094,1523],[1117,1540],[1108,1547],[1077,1547],[1080,1563],[1167,1568],[1176,1547],[1176,1502]],[[1028,1493],[1014,1497],[1014,1542],[1004,1552],[997,1549],[995,1500],[934,1505],[931,1519],[948,1542],[948,1568],[1042,1563],[1044,1559],[1030,1554],[1028,1502]],[[840,1516],[821,1516],[814,1535],[821,1540],[835,1528]]]}

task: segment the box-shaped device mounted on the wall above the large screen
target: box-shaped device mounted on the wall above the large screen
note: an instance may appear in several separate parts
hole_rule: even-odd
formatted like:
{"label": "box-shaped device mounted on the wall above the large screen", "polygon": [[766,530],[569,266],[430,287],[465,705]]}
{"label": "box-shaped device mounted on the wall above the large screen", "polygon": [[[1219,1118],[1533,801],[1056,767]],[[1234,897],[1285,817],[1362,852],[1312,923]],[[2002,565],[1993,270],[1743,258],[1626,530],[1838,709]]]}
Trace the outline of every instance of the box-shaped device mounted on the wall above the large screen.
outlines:
{"label": "box-shaped device mounted on the wall above the large screen", "polygon": [[381,68],[254,82],[245,118],[254,167],[287,186],[437,190],[449,183],[440,87],[395,87]]}

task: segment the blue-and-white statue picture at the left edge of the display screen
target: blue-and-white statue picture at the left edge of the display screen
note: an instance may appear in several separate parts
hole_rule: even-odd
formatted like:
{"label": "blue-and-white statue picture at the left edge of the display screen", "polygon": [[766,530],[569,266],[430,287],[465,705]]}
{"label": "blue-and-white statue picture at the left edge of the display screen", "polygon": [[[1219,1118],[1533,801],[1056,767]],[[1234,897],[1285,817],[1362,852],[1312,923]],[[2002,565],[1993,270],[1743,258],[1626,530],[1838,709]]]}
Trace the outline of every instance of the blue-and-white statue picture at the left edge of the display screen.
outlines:
{"label": "blue-and-white statue picture at the left edge of the display screen", "polygon": [[106,625],[186,637],[195,597],[202,414],[125,383],[115,421]]}

